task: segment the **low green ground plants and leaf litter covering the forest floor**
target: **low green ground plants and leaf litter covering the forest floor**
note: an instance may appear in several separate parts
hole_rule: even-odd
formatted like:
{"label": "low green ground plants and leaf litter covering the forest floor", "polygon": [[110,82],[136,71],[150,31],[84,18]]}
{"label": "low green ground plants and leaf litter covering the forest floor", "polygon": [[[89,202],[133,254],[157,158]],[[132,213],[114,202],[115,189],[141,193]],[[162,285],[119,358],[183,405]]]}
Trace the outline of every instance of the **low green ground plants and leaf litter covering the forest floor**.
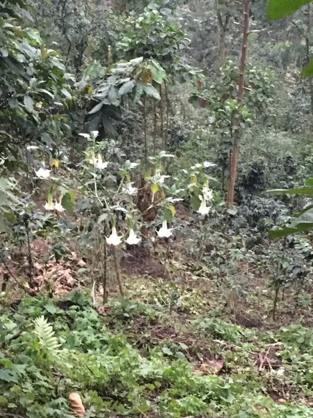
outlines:
{"label": "low green ground plants and leaf litter covering the forest floor", "polygon": [[205,263],[177,248],[163,278],[124,271],[125,297],[106,305],[83,284],[3,300],[1,417],[74,417],[70,392],[86,417],[312,417],[310,309],[286,293],[271,320],[257,276],[230,303]]}

